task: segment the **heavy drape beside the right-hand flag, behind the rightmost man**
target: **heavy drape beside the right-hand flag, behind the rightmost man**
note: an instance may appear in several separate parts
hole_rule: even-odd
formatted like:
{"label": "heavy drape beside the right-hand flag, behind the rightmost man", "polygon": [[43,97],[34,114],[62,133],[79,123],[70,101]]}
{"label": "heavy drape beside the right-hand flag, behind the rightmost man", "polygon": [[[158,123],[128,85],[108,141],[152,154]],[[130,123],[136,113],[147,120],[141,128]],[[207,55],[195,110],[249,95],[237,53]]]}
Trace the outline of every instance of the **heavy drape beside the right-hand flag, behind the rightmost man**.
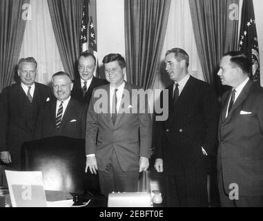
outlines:
{"label": "heavy drape beside the right-hand flag, behind the rightmost man", "polygon": [[220,93],[217,70],[224,52],[237,50],[239,0],[189,0],[204,79]]}

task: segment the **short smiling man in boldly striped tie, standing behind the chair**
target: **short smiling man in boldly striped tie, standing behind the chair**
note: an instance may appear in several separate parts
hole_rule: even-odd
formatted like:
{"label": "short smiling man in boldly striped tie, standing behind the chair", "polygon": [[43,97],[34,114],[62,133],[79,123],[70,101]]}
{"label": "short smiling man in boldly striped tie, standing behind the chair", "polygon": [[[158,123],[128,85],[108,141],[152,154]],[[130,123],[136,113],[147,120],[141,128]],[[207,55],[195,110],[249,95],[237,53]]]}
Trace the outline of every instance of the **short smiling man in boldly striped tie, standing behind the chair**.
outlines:
{"label": "short smiling man in boldly striped tie, standing behind the chair", "polygon": [[35,139],[52,136],[85,138],[87,105],[70,97],[73,84],[64,72],[52,76],[52,88],[57,99],[41,107],[37,119]]}

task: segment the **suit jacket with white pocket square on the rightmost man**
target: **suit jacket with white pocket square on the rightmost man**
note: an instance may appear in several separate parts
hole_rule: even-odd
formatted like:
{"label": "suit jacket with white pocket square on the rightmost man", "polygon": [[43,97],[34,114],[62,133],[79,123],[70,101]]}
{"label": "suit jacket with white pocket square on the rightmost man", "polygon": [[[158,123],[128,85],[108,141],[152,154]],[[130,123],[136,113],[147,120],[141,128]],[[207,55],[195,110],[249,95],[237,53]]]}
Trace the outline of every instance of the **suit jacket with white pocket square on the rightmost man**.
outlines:
{"label": "suit jacket with white pocket square on the rightmost man", "polygon": [[222,97],[218,175],[226,193],[235,183],[240,195],[263,195],[263,88],[249,81],[226,117],[230,95],[231,90]]}

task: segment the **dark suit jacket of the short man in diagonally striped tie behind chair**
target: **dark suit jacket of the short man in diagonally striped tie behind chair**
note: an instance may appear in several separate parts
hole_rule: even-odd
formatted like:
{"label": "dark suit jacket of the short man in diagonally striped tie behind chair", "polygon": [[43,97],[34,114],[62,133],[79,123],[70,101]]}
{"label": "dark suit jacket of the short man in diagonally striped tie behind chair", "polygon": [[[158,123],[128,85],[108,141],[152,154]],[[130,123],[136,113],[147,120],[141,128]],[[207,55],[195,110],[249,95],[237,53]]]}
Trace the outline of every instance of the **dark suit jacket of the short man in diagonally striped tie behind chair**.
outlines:
{"label": "dark suit jacket of the short man in diagonally striped tie behind chair", "polygon": [[57,99],[46,102],[39,111],[34,139],[65,136],[85,138],[87,105],[70,98],[59,129],[56,127]]}

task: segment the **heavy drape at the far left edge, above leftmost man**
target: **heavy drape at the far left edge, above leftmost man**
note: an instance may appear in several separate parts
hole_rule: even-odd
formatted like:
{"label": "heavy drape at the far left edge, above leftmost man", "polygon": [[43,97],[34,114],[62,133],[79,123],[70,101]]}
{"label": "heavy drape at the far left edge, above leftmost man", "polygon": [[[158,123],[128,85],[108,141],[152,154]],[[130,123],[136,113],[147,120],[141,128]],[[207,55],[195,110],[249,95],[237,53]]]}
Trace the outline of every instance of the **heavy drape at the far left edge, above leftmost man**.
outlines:
{"label": "heavy drape at the far left edge, above leftmost man", "polygon": [[[0,1],[0,93],[12,83],[26,27],[29,0]],[[22,16],[23,15],[23,16]]]}

